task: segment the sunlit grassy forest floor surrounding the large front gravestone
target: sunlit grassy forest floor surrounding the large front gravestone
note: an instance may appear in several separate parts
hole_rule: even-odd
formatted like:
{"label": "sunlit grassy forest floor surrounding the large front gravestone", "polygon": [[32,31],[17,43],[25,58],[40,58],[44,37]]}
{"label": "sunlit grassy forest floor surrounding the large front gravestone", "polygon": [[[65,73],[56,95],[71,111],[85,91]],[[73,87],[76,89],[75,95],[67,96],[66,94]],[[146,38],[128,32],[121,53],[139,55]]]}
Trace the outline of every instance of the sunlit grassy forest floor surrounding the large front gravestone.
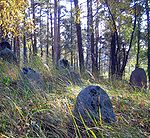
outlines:
{"label": "sunlit grassy forest floor surrounding the large front gravestone", "polygon": [[[0,138],[148,138],[150,137],[150,93],[136,92],[127,83],[107,80],[66,87],[53,69],[39,61],[30,64],[42,72],[52,87],[45,91],[18,88],[12,83],[18,68],[0,61]],[[11,77],[11,80],[10,80]],[[102,87],[110,96],[117,121],[82,126],[72,119],[72,109],[81,89]]]}

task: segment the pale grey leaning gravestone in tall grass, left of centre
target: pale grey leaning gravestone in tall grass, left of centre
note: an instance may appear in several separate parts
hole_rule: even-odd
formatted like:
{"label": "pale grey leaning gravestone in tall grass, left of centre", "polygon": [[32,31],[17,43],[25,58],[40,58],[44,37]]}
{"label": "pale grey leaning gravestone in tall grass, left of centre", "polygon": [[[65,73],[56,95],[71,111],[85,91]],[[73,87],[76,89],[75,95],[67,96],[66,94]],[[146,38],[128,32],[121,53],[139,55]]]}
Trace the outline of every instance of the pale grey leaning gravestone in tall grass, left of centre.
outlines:
{"label": "pale grey leaning gravestone in tall grass, left of centre", "polygon": [[31,89],[45,90],[45,83],[39,72],[29,67],[24,67],[20,75],[22,85],[28,86]]}

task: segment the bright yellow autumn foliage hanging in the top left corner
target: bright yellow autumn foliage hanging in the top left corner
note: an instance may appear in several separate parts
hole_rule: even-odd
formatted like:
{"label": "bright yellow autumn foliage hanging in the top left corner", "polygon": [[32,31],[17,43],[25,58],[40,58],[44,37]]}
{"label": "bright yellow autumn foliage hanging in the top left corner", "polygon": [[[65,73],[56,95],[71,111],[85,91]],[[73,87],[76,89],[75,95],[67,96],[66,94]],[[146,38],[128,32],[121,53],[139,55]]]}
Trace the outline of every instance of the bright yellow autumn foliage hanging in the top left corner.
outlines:
{"label": "bright yellow autumn foliage hanging in the top left corner", "polygon": [[4,36],[8,32],[18,35],[18,27],[23,22],[27,6],[28,0],[0,0],[0,26]]}

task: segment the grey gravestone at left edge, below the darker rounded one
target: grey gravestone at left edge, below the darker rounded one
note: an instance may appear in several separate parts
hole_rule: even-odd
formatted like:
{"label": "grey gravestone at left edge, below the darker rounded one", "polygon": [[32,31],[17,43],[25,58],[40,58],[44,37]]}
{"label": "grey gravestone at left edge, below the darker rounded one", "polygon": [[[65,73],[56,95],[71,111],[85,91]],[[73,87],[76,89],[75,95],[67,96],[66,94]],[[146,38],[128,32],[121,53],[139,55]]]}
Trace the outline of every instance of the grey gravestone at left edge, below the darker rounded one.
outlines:
{"label": "grey gravestone at left edge, below the darker rounded one", "polygon": [[17,58],[14,52],[8,48],[4,48],[0,51],[0,58],[2,58],[5,61],[8,61],[9,63],[17,63]]}

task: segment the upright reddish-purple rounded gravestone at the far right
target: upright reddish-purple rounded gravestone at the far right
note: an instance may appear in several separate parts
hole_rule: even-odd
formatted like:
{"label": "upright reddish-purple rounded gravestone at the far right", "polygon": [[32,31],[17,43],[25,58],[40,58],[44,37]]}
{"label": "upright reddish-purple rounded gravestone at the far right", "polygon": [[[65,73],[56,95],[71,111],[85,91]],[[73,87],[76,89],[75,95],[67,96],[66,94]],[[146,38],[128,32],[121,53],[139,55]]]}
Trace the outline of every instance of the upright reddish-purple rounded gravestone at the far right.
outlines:
{"label": "upright reddish-purple rounded gravestone at the far right", "polygon": [[130,76],[130,84],[139,90],[142,88],[147,88],[147,77],[144,69],[136,67],[135,70],[132,71]]}

